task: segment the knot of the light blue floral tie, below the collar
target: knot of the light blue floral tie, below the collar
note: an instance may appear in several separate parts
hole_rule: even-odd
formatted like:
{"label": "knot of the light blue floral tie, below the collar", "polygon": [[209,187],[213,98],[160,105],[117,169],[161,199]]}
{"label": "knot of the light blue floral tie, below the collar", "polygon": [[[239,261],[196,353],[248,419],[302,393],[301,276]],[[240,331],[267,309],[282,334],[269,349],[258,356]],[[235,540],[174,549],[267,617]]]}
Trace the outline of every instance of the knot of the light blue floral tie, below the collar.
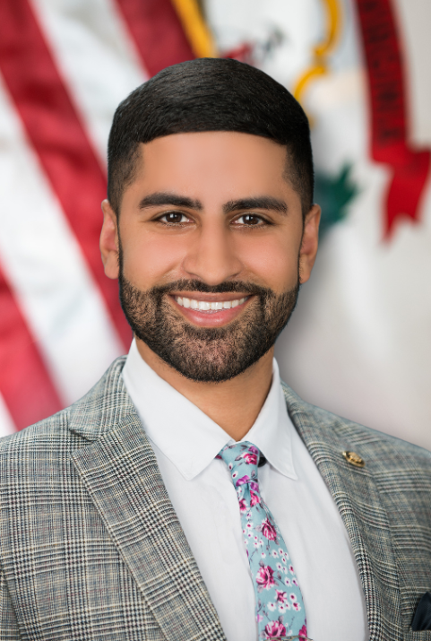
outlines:
{"label": "knot of the light blue floral tie, below the collar", "polygon": [[241,486],[248,486],[249,490],[259,491],[257,466],[261,453],[258,447],[248,441],[236,443],[233,446],[223,447],[219,456],[228,465],[232,482],[237,490]]}

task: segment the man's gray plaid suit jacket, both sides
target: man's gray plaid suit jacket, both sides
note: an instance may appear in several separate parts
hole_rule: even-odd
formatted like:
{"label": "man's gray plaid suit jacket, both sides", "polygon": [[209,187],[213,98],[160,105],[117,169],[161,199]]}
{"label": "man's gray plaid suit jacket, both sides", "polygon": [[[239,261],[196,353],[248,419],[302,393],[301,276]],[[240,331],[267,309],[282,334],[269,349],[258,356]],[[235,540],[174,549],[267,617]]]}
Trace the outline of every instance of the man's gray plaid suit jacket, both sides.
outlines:
{"label": "man's gray plaid suit jacket, both sides", "polygon": [[[0,440],[1,641],[226,641],[124,361],[72,407]],[[431,640],[410,628],[431,591],[431,454],[285,394],[349,533],[371,641]]]}

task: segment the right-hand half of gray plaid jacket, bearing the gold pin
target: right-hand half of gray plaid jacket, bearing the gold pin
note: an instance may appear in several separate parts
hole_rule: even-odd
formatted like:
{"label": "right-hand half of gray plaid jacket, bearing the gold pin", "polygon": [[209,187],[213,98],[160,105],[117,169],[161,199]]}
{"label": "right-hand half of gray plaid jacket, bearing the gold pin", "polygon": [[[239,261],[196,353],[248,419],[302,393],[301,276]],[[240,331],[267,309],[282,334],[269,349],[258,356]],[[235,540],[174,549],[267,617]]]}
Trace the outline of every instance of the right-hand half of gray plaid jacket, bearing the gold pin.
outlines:
{"label": "right-hand half of gray plaid jacket, bearing the gold pin", "polygon": [[[431,453],[304,403],[288,385],[283,390],[349,533],[370,641],[431,640],[431,632],[411,630],[431,586]],[[345,450],[366,466],[349,464]]]}

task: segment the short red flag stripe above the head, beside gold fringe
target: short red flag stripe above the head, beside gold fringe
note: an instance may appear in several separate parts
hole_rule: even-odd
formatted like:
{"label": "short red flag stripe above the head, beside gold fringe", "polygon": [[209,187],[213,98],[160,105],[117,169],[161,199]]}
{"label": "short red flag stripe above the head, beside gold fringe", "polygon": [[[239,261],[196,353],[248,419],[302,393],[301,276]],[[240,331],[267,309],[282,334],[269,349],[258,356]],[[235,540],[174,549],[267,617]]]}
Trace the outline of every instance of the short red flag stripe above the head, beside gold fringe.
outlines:
{"label": "short red flag stripe above the head, beside gold fringe", "polygon": [[116,0],[150,75],[193,60],[183,26],[170,0]]}

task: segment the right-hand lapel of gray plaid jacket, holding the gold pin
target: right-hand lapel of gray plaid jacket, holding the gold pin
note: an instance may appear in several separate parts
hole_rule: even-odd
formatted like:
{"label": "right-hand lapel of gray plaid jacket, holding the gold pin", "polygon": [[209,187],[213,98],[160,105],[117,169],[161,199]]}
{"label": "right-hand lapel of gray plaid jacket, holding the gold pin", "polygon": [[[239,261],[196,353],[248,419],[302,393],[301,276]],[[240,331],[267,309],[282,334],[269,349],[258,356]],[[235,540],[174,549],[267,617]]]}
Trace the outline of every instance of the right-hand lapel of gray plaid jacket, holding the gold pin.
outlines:
{"label": "right-hand lapel of gray plaid jacket, holding the gold pin", "polygon": [[[288,411],[323,480],[332,493],[349,533],[366,598],[370,641],[401,641],[400,587],[390,528],[379,496],[369,457],[371,435],[358,436],[336,416],[304,403],[283,385]],[[342,456],[344,450],[361,455],[365,468],[354,467]],[[393,612],[399,612],[394,620]]]}

